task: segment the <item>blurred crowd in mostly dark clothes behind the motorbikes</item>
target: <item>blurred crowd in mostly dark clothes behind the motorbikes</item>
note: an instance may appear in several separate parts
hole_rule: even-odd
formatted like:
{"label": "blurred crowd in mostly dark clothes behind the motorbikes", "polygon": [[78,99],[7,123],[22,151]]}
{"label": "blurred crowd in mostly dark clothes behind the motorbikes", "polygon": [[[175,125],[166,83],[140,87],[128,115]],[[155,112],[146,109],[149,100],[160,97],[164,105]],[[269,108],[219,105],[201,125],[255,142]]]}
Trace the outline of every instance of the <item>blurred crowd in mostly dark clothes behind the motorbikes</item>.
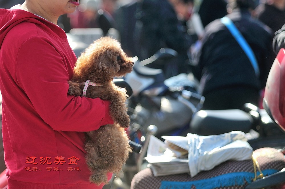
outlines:
{"label": "blurred crowd in mostly dark clothes behind the motorbikes", "polygon": [[[0,7],[23,2],[0,0]],[[251,47],[259,75],[219,21],[225,15]],[[231,109],[240,108],[230,102],[238,96],[244,98],[241,103],[261,106],[258,100],[276,56],[272,39],[284,23],[285,0],[80,0],[76,12],[62,15],[58,25],[66,33],[101,28],[103,36],[115,28],[126,54],[141,60],[161,48],[172,48],[177,57],[148,66],[163,69],[166,78],[194,74],[200,81],[199,93],[207,97],[204,108]]]}

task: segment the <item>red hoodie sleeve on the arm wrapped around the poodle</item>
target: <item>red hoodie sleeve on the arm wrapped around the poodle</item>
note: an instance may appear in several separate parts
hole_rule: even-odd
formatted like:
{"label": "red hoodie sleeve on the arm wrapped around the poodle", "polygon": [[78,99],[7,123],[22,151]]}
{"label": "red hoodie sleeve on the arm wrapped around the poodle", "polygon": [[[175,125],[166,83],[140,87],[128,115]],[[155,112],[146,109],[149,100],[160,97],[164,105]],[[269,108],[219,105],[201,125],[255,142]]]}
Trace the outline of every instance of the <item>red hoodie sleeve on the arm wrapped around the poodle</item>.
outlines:
{"label": "red hoodie sleeve on the arm wrapped around the poodle", "polygon": [[19,49],[16,79],[31,108],[54,130],[87,132],[113,124],[109,101],[68,95],[73,66],[60,48],[36,36]]}

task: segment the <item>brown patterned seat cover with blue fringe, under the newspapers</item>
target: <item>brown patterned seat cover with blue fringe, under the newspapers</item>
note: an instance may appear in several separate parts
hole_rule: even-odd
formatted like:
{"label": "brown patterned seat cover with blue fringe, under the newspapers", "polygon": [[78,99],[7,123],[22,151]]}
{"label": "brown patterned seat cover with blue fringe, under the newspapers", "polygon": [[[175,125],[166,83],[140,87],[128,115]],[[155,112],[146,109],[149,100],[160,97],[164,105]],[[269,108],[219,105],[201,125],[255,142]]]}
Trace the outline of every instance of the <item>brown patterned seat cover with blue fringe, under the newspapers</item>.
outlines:
{"label": "brown patterned seat cover with blue fringe, under the newspapers", "polygon": [[261,178],[260,172],[267,176],[285,167],[284,155],[274,148],[257,149],[253,157],[255,161],[226,161],[192,178],[189,174],[154,177],[147,168],[134,176],[131,189],[243,189]]}

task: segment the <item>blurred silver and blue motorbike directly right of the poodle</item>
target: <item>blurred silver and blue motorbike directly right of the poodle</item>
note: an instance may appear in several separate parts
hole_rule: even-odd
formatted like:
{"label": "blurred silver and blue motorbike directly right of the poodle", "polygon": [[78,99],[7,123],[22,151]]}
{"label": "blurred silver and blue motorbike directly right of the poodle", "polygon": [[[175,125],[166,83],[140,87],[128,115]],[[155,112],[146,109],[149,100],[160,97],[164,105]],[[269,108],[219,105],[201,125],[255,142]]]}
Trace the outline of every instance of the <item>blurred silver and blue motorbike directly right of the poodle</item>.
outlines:
{"label": "blurred silver and blue motorbike directly right of the poodle", "polygon": [[197,93],[198,85],[191,75],[180,74],[165,79],[162,69],[147,67],[169,60],[176,54],[172,49],[162,48],[148,59],[135,61],[133,71],[124,78],[133,89],[133,96],[128,99],[131,119],[144,131],[149,125],[156,125],[157,137],[181,135],[189,128],[192,115],[204,101],[204,97]]}

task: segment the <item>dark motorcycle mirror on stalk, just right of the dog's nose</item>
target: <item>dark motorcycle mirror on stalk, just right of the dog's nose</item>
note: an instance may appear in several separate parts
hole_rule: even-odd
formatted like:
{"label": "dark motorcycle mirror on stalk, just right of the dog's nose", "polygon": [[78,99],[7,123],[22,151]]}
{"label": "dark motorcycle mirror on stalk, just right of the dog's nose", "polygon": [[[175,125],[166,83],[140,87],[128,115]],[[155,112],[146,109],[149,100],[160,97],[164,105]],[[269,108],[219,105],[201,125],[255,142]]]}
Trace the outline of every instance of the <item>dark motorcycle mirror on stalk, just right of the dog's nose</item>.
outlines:
{"label": "dark motorcycle mirror on stalk, just right of the dog's nose", "polygon": [[178,52],[176,52],[175,50],[171,49],[171,48],[161,48],[160,50],[158,50],[153,56],[142,60],[139,64],[141,66],[150,64],[156,60],[168,60],[171,59],[173,57],[176,57],[178,54]]}

